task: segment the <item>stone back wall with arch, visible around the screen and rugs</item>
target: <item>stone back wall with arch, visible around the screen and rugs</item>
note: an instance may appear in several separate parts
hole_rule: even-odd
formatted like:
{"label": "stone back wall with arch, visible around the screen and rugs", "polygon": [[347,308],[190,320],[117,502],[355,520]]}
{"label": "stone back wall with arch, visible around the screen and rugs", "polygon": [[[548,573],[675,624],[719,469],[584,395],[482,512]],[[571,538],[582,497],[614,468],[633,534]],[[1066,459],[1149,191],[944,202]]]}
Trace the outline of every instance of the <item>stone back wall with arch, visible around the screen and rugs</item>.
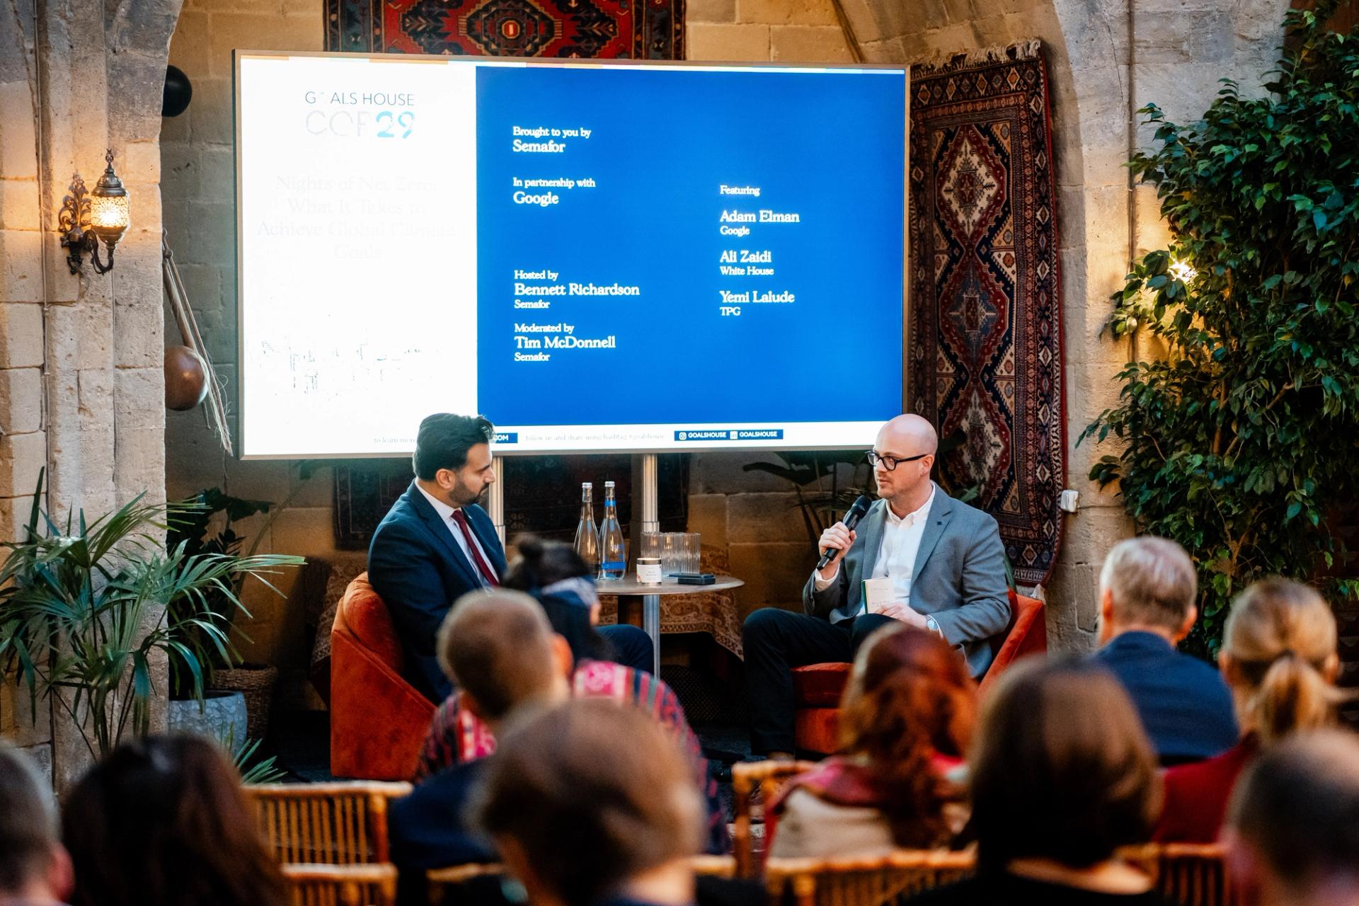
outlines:
{"label": "stone back wall with arch, visible around the screen and rugs", "polygon": [[[166,224],[190,300],[228,384],[235,380],[235,270],[231,211],[231,48],[315,50],[322,45],[318,0],[189,0],[171,61],[194,84],[189,111],[163,134]],[[1108,297],[1131,251],[1163,240],[1154,198],[1133,194],[1123,162],[1131,110],[1148,101],[1192,118],[1212,99],[1216,79],[1250,87],[1268,69],[1286,0],[845,0],[845,12],[871,62],[916,62],[945,53],[1042,38],[1051,67],[1055,156],[1061,217],[1067,353],[1068,479],[1080,511],[1068,518],[1063,553],[1048,588],[1053,644],[1094,640],[1099,562],[1129,531],[1116,497],[1084,475],[1102,455],[1076,447],[1080,429],[1109,406],[1113,374],[1127,344],[1099,337]],[[847,62],[849,45],[830,0],[689,0],[690,60]],[[1131,60],[1129,60],[1129,53]],[[1129,67],[1131,61],[1131,67]],[[173,330],[173,329],[171,329]],[[231,391],[234,393],[234,391]],[[228,393],[228,398],[231,397]],[[171,413],[166,428],[167,492],[185,496],[222,486],[287,507],[261,550],[322,557],[333,553],[328,469],[300,481],[287,463],[242,463],[222,455],[200,413]],[[795,607],[811,545],[796,499],[769,475],[742,466],[757,454],[696,454],[690,527],[726,546],[746,579],[742,611]],[[246,524],[250,534],[262,520]],[[292,591],[292,583],[284,583]],[[296,604],[247,590],[255,613],[247,656],[300,666],[303,614]]]}

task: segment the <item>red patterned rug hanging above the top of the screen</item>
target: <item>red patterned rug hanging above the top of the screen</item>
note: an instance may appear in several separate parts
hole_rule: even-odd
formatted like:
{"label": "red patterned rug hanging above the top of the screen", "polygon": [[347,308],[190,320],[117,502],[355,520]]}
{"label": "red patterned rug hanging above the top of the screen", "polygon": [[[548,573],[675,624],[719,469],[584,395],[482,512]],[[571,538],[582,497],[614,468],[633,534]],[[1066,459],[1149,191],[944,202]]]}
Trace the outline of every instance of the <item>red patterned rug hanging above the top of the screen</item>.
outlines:
{"label": "red patterned rug hanging above the top of the screen", "polygon": [[684,60],[685,0],[325,0],[326,50]]}

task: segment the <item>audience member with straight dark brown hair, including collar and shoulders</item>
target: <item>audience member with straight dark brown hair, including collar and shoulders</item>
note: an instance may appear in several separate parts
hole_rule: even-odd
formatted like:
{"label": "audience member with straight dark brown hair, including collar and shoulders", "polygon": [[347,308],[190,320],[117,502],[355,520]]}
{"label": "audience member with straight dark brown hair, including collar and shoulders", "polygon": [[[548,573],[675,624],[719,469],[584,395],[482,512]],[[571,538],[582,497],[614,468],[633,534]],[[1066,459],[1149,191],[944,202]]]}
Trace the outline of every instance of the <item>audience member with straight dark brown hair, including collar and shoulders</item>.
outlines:
{"label": "audience member with straight dark brown hair, including collar and shoulders", "polygon": [[1161,788],[1106,671],[1063,659],[1011,667],[984,704],[970,765],[978,873],[912,902],[1161,902],[1148,876],[1114,858],[1150,835]]}

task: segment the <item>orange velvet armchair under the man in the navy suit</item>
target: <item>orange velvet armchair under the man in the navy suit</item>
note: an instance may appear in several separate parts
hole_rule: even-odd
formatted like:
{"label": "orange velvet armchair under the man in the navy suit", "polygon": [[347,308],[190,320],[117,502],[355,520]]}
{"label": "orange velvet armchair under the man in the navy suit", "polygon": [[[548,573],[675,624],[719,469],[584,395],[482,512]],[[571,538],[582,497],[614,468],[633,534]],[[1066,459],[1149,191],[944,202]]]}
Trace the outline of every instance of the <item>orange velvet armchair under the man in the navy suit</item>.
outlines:
{"label": "orange velvet armchair under the man in the navy suit", "polygon": [[434,702],[401,675],[401,641],[360,573],[345,588],[330,636],[330,773],[410,780]]}

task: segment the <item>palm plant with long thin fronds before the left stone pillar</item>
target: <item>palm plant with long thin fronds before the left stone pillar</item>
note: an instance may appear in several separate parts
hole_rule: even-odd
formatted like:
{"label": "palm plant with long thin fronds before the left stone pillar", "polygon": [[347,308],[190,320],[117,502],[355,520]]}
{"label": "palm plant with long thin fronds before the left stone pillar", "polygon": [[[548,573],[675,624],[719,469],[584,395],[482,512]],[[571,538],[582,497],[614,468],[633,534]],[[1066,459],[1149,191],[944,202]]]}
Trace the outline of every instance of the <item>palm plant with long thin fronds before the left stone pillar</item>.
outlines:
{"label": "palm plant with long thin fronds before the left stone pillar", "polygon": [[303,562],[190,554],[182,542],[166,549],[160,537],[183,504],[140,494],[94,522],[82,511],[61,527],[41,509],[41,496],[42,475],[24,537],[0,542],[0,667],[18,671],[34,710],[39,695],[50,698],[96,758],[129,729],[147,733],[158,653],[200,701],[208,657],[235,656],[209,595],[245,611],[236,577],[253,575],[277,592],[265,575]]}

